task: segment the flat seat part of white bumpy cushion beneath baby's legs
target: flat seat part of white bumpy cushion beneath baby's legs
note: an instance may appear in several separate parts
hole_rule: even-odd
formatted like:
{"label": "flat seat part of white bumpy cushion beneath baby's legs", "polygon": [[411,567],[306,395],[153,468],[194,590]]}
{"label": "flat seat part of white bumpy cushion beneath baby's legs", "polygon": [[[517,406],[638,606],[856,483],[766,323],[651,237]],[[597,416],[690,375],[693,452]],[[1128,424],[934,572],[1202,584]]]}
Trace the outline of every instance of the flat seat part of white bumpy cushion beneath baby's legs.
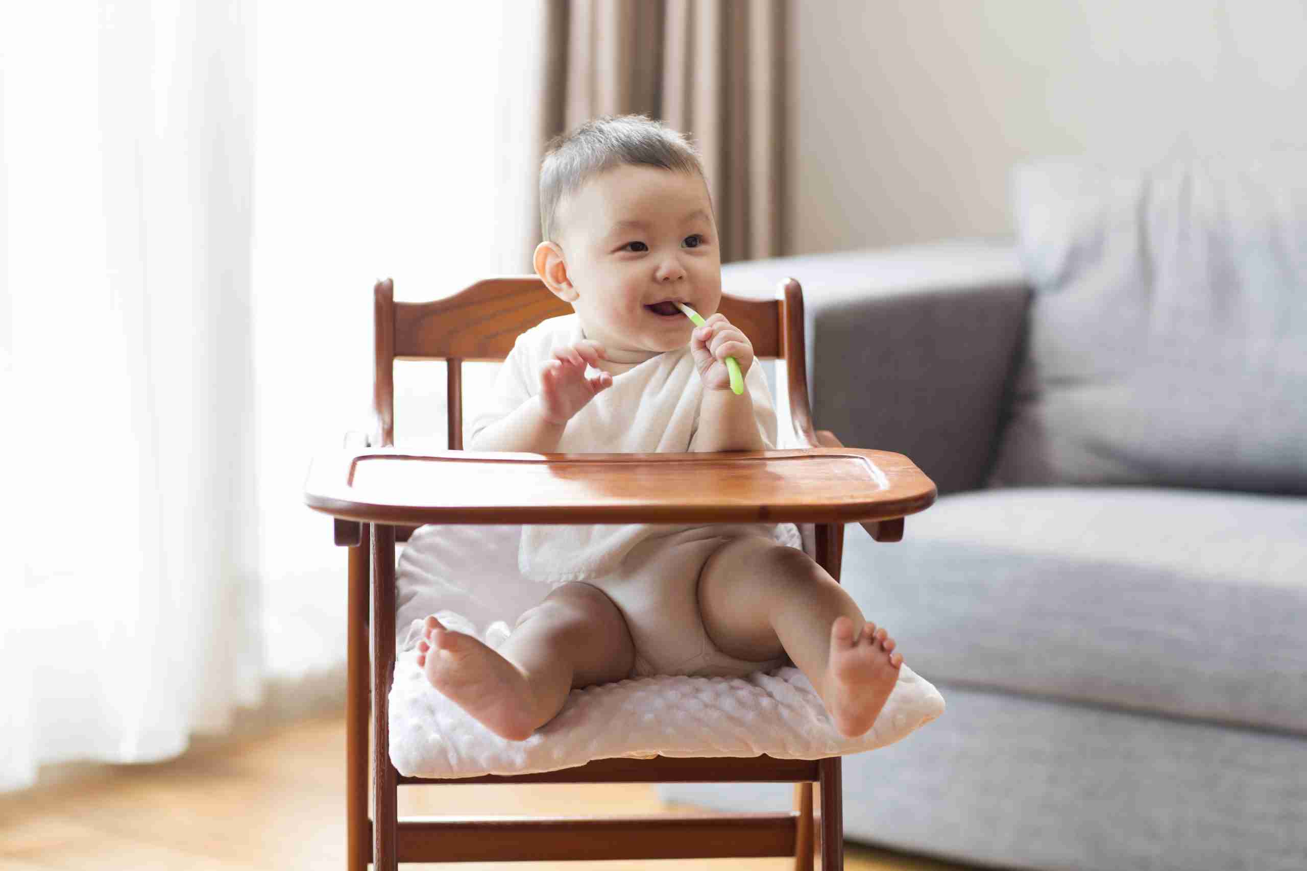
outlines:
{"label": "flat seat part of white bumpy cushion beneath baby's legs", "polygon": [[[488,644],[464,618],[439,612],[450,628]],[[498,636],[498,637],[497,637]],[[844,738],[799,669],[748,678],[657,675],[572,689],[563,709],[523,742],[506,740],[442,696],[414,650],[395,666],[391,761],[408,777],[527,774],[616,756],[758,756],[822,759],[893,744],[944,712],[944,697],[901,666],[872,729]]]}

